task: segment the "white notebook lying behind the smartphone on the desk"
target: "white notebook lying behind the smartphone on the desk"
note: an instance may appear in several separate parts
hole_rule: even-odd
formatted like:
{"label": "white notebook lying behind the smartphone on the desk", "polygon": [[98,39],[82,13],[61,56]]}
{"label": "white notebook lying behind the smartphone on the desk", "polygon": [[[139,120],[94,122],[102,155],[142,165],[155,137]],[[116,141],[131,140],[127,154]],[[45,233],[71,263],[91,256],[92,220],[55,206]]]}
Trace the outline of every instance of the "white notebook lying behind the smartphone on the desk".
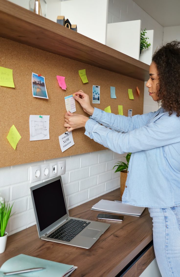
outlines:
{"label": "white notebook lying behind the smartphone on the desk", "polygon": [[129,216],[141,216],[145,207],[137,207],[121,202],[115,202],[110,200],[100,200],[92,206],[91,210],[113,212],[117,214],[127,214]]}

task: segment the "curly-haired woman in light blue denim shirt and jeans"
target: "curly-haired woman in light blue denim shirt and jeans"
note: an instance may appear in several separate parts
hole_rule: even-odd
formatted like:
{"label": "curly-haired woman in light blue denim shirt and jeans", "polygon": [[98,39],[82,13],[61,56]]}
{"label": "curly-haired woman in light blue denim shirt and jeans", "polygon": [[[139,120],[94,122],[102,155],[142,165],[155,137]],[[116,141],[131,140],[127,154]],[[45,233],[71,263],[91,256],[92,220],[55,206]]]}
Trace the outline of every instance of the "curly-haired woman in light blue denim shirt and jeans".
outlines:
{"label": "curly-haired woman in light blue denim shirt and jeans", "polygon": [[[163,277],[180,276],[180,42],[162,46],[152,57],[146,83],[161,108],[133,117],[93,108],[83,91],[74,98],[91,116],[65,114],[68,131],[85,135],[117,153],[132,152],[122,201],[148,207],[155,256]],[[101,124],[101,125],[100,125]]]}

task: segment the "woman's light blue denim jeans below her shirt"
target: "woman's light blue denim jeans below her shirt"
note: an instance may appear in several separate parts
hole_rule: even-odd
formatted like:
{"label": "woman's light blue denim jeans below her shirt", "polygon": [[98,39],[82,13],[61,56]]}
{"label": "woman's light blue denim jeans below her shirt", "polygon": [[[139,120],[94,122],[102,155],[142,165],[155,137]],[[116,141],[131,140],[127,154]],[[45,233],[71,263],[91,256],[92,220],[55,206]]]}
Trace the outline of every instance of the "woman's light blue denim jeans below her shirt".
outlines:
{"label": "woman's light blue denim jeans below her shirt", "polygon": [[153,245],[162,277],[180,277],[180,206],[149,208]]}

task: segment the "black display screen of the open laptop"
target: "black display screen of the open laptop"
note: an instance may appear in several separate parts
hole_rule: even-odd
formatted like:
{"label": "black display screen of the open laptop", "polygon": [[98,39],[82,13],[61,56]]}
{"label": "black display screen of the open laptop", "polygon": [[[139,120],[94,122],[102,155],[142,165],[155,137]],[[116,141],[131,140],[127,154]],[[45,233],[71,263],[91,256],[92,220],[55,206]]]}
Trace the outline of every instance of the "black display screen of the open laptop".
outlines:
{"label": "black display screen of the open laptop", "polygon": [[32,193],[40,231],[67,214],[60,179],[49,184],[44,183],[33,189]]}

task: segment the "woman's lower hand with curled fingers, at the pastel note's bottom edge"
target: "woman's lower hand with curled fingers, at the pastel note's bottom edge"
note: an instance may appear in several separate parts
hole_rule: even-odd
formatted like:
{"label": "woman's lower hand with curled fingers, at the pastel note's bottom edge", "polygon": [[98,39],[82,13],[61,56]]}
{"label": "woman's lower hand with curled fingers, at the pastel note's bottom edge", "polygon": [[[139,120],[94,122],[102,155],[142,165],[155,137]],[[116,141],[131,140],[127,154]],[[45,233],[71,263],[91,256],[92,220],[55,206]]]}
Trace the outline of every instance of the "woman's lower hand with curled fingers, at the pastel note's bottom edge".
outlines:
{"label": "woman's lower hand with curled fingers, at the pastel note's bottom edge", "polygon": [[85,127],[86,121],[88,121],[88,117],[83,116],[82,114],[73,114],[70,111],[65,113],[65,124],[67,131],[70,132],[74,129],[78,129],[81,127]]}

